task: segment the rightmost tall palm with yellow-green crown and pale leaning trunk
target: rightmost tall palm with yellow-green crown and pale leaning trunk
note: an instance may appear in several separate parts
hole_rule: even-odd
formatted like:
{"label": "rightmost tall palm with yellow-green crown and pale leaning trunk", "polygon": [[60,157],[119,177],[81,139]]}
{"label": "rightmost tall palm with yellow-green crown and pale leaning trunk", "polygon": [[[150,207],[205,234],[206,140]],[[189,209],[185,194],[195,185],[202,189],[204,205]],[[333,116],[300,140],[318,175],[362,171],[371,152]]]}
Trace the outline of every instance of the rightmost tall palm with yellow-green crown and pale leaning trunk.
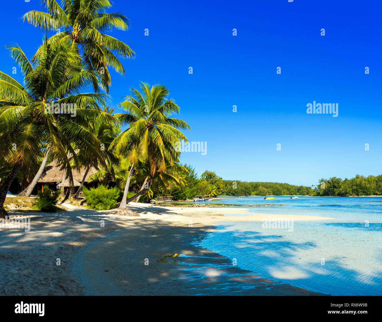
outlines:
{"label": "rightmost tall palm with yellow-green crown and pale leaning trunk", "polygon": [[190,129],[185,121],[170,118],[170,115],[179,113],[180,108],[173,99],[167,99],[170,91],[166,86],[150,88],[147,83],[141,83],[140,88],[141,92],[131,88],[131,96],[126,96],[125,101],[118,104],[127,113],[116,114],[116,117],[129,127],[110,145],[110,149],[125,155],[131,162],[120,208],[126,207],[136,165],[147,163],[152,177],[157,171],[166,172],[166,163],[178,162],[179,152],[175,150],[175,144],[181,139],[187,140],[179,129]]}

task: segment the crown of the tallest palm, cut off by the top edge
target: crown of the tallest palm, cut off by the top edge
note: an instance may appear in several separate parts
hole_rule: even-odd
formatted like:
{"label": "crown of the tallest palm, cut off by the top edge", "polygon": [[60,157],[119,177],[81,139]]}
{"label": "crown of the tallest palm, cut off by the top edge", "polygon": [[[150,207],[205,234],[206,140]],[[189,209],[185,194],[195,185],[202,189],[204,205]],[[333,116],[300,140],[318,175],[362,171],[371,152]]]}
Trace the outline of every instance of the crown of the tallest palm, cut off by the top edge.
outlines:
{"label": "crown of the tallest palm, cut off by the top edge", "polygon": [[108,0],[63,0],[62,7],[55,0],[42,0],[41,5],[47,12],[29,11],[23,16],[24,21],[43,31],[58,31],[49,38],[49,43],[71,41],[83,54],[87,68],[99,72],[101,87],[108,93],[108,67],[111,65],[124,75],[125,68],[117,57],[133,58],[135,53],[105,32],[128,30],[129,19],[120,12],[106,13],[105,10],[112,7]]}

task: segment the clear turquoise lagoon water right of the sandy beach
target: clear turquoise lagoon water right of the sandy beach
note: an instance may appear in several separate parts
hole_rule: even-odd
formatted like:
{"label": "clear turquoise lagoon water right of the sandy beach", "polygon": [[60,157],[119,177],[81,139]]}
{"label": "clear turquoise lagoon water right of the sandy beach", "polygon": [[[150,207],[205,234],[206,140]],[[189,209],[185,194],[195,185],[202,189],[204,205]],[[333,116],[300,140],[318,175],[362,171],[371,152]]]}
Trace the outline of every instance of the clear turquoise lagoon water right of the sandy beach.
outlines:
{"label": "clear turquoise lagoon water right of the sandy beach", "polygon": [[293,231],[266,229],[262,221],[220,223],[196,246],[236,259],[240,268],[311,291],[382,295],[382,197],[226,198],[206,203],[283,204],[288,206],[246,209],[276,218],[282,214],[290,219],[293,215],[333,219],[294,220]]}

